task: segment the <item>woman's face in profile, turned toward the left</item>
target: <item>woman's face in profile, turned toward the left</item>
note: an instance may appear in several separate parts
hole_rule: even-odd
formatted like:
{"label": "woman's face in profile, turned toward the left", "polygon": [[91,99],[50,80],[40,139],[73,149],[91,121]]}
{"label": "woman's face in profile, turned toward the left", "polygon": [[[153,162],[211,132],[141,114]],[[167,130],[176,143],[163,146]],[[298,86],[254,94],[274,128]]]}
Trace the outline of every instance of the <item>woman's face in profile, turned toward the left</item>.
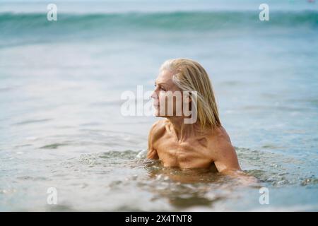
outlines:
{"label": "woman's face in profile, turned toward the left", "polygon": [[184,117],[189,116],[191,98],[173,82],[171,71],[160,71],[155,80],[153,107],[156,117]]}

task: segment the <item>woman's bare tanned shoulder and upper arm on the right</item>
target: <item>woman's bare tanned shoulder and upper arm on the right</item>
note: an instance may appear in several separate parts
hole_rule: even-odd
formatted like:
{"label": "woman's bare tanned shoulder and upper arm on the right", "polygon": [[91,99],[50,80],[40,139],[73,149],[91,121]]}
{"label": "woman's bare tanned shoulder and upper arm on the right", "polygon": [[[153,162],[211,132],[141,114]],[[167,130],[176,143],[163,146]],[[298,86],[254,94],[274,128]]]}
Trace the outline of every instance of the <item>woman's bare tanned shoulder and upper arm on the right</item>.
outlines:
{"label": "woman's bare tanned shoulder and upper arm on the right", "polygon": [[223,169],[240,169],[230,136],[222,126],[208,136],[208,150],[219,172]]}

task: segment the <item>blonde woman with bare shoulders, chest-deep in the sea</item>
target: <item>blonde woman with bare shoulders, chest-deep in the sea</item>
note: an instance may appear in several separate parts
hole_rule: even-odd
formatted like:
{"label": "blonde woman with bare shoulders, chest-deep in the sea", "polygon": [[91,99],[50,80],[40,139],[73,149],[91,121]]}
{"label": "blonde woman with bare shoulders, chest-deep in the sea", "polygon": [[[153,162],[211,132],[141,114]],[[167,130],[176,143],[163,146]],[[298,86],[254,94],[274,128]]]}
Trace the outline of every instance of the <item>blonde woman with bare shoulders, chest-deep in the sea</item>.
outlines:
{"label": "blonde woman with bare shoulders, chest-deep in the sea", "polygon": [[[167,93],[188,93],[177,100],[167,114]],[[220,123],[211,81],[204,68],[191,59],[170,59],[160,67],[155,81],[155,116],[165,119],[153,124],[148,137],[147,157],[159,159],[165,167],[210,168],[218,172],[240,171],[230,137]],[[190,107],[185,105],[191,103]],[[179,106],[179,107],[178,107]],[[171,109],[171,107],[170,107]],[[185,123],[196,114],[196,121]],[[181,114],[177,114],[181,112]]]}

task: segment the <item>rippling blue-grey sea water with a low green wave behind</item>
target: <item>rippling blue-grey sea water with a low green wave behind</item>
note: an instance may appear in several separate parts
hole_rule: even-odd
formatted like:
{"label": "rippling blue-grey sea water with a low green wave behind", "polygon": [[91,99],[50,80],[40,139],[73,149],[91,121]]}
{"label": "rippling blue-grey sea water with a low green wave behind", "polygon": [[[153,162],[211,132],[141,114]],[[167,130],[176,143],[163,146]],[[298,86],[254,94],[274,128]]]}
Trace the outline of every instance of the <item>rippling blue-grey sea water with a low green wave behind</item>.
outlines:
{"label": "rippling blue-grey sea water with a low green wave behind", "polygon": [[[318,210],[318,2],[266,1],[269,21],[262,1],[49,3],[0,1],[1,211]],[[259,186],[146,160],[158,119],[121,95],[177,57],[208,71]]]}

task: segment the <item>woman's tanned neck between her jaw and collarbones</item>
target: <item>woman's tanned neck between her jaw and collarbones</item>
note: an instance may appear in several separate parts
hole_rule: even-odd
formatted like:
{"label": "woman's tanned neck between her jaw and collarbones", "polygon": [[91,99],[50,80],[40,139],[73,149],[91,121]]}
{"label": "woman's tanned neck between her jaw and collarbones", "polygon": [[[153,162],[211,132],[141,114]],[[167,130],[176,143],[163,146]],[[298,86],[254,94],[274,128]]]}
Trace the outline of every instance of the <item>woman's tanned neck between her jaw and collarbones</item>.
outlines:
{"label": "woman's tanned neck between her jaw and collarbones", "polygon": [[178,141],[196,136],[199,132],[198,124],[184,124],[184,117],[171,117],[168,118],[172,125],[172,131],[175,132]]}

